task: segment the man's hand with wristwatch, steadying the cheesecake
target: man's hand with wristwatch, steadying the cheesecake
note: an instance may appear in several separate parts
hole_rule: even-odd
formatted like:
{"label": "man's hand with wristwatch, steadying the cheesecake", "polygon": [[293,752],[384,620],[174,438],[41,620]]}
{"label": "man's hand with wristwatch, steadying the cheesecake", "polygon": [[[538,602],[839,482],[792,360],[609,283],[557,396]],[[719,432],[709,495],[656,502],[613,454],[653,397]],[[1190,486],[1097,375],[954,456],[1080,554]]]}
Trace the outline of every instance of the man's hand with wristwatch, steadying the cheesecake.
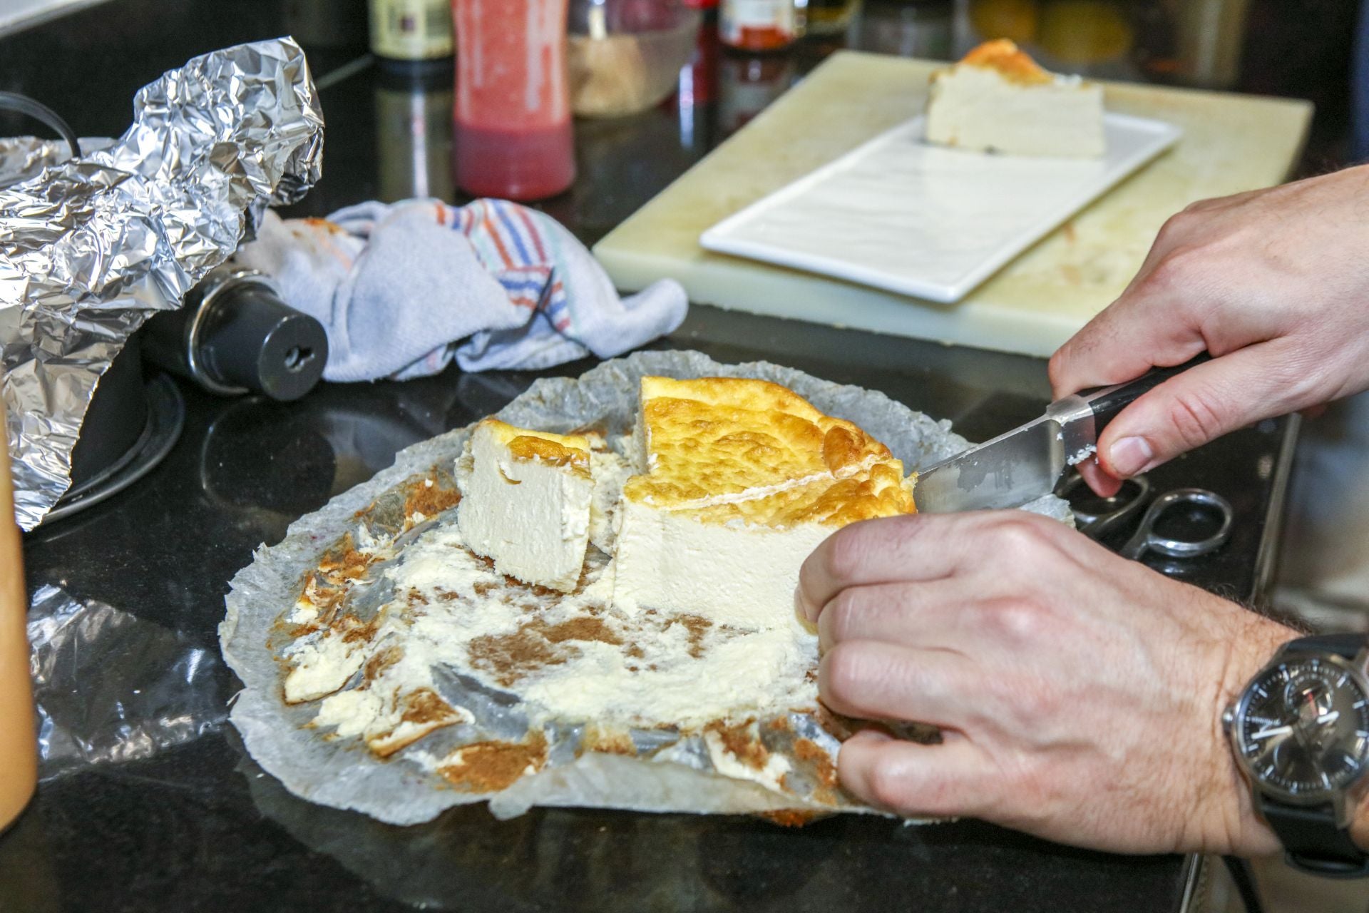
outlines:
{"label": "man's hand with wristwatch, steadying the cheesecake", "polygon": [[1279,847],[1220,717],[1291,630],[1021,511],[845,527],[798,602],[830,708],[943,730],[847,741],[865,801],[1116,851]]}

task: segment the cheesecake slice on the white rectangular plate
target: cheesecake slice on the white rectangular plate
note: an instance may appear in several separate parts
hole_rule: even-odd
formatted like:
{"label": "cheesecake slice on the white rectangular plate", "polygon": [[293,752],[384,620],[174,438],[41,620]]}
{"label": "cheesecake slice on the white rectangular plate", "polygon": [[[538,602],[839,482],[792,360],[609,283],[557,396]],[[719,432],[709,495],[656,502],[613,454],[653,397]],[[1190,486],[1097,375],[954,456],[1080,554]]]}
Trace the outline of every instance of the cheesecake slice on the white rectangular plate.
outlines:
{"label": "cheesecake slice on the white rectangular plate", "polygon": [[1047,73],[1006,38],[932,74],[927,141],[979,152],[1101,157],[1103,90]]}

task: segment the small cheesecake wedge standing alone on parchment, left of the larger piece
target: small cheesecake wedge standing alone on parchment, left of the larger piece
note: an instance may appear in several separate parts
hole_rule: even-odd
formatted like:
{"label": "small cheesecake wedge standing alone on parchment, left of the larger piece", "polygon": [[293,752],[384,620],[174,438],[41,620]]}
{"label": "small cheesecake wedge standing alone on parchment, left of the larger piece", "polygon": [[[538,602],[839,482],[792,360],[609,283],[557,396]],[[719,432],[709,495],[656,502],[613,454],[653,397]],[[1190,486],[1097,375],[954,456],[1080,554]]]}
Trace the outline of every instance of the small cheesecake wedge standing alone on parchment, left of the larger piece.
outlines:
{"label": "small cheesecake wedge standing alone on parchment, left of the larger piece", "polygon": [[590,535],[590,442],[485,419],[457,463],[457,528],[494,569],[570,593]]}

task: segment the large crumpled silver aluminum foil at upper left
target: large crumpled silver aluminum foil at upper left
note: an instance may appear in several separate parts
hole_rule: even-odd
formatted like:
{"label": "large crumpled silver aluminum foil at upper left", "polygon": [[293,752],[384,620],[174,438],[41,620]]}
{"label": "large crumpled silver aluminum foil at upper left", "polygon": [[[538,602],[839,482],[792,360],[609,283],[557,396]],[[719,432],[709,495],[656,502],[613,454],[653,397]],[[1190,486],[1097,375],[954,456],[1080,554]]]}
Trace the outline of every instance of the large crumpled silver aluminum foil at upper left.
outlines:
{"label": "large crumpled silver aluminum foil at upper left", "polygon": [[[53,155],[7,149],[21,170]],[[85,411],[129,335],[179,307],[267,205],[303,197],[322,152],[304,52],[277,38],[194,57],[138,92],[111,146],[0,189],[0,394],[23,530],[70,487]]]}

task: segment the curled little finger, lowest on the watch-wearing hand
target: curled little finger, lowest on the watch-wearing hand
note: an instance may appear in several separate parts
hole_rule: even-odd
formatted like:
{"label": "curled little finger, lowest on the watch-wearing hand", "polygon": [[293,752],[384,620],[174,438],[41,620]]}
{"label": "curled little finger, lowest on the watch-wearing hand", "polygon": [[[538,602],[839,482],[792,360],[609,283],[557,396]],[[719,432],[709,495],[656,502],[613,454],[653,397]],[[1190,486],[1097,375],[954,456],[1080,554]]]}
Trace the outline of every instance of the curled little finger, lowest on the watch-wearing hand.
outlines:
{"label": "curled little finger, lowest on the watch-wearing hand", "polygon": [[956,732],[939,745],[860,732],[842,743],[836,773],[864,801],[905,816],[983,817],[1003,791],[997,765]]}

